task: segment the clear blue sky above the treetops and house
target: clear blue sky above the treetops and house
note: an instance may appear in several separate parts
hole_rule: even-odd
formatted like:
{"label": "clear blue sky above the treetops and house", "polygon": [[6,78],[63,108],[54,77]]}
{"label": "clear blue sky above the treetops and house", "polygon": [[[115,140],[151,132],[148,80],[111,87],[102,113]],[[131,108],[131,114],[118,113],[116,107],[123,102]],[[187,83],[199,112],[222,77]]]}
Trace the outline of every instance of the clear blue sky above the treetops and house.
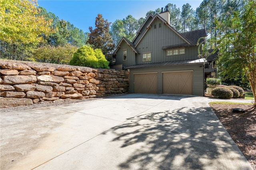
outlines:
{"label": "clear blue sky above the treetops and house", "polygon": [[84,32],[89,32],[89,26],[95,27],[98,14],[113,23],[129,14],[137,20],[145,18],[148,11],[154,11],[168,3],[176,4],[180,10],[183,4],[189,3],[196,10],[201,2],[202,0],[38,0],[38,6],[69,21]]}

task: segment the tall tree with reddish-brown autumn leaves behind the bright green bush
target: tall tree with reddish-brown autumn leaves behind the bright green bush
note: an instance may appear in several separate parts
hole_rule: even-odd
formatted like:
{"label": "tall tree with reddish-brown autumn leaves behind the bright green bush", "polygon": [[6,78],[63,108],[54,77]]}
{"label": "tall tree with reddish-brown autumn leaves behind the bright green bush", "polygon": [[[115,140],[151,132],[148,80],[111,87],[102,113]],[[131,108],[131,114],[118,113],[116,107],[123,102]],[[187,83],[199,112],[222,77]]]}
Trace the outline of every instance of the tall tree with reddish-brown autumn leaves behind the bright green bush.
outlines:
{"label": "tall tree with reddish-brown autumn leaves behind the bright green bush", "polygon": [[109,27],[111,22],[104,20],[101,14],[98,14],[95,20],[95,29],[89,27],[89,39],[87,42],[92,45],[95,49],[99,48],[105,55],[106,59],[110,62],[113,61],[112,53],[114,51],[114,43],[109,33]]}

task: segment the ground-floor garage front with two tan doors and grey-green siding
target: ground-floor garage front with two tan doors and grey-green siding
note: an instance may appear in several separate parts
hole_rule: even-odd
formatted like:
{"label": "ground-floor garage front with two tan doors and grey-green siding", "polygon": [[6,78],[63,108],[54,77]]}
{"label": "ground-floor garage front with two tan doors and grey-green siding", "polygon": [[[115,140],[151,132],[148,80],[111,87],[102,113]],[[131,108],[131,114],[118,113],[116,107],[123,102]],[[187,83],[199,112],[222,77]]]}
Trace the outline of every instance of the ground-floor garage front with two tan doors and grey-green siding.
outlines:
{"label": "ground-floor garage front with two tan doors and grey-green siding", "polygon": [[129,68],[129,92],[152,94],[204,94],[203,63]]}

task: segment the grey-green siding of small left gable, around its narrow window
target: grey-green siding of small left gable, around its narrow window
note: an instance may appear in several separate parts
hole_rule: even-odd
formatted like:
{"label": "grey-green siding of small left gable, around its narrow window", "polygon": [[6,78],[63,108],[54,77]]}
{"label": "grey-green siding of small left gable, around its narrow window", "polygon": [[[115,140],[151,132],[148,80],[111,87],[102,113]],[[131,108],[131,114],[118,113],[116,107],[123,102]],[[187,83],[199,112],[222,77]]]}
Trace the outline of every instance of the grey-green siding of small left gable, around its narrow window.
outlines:
{"label": "grey-green siding of small left gable, around its narrow window", "polygon": [[[132,50],[132,48],[123,41],[120,44],[120,48],[118,49],[116,53],[116,65],[122,64],[123,67],[128,67],[129,65],[134,65],[135,63],[135,52]],[[123,61],[123,50],[127,49],[127,60]]]}

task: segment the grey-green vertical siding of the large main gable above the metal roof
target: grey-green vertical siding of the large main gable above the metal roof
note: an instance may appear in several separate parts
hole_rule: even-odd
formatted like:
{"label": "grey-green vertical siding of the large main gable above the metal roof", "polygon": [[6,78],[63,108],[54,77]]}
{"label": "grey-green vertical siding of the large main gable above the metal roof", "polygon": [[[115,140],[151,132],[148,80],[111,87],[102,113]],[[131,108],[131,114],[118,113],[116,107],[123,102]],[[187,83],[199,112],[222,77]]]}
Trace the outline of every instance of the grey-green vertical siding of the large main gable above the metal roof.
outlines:
{"label": "grey-green vertical siding of the large main gable above the metal roof", "polygon": [[[161,28],[159,28],[161,24]],[[154,28],[156,25],[156,29]],[[186,43],[180,36],[173,32],[161,20],[155,19],[151,24],[151,28],[146,32],[142,40],[136,46],[140,54],[136,54],[136,64],[141,63],[158,63],[165,61],[177,61],[198,58],[198,47],[186,47],[185,54],[166,56],[166,50],[163,46],[177,45]],[[151,52],[151,61],[142,62],[142,53]]]}

